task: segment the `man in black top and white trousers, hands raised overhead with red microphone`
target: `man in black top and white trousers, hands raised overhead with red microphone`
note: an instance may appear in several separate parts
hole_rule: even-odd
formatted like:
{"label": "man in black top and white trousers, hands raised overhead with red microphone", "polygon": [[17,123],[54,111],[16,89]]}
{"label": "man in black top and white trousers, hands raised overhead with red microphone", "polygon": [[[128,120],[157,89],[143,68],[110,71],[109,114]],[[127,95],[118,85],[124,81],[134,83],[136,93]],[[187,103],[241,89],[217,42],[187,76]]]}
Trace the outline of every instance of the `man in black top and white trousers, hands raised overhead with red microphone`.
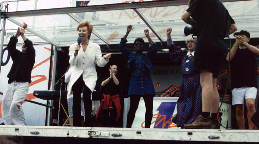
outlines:
{"label": "man in black top and white trousers, hands raised overhead with red microphone", "polygon": [[[16,49],[19,33],[24,41],[22,51]],[[24,35],[25,29],[18,28],[7,45],[13,60],[8,73],[8,85],[2,99],[2,117],[5,125],[26,125],[23,113],[23,101],[31,82],[31,71],[35,63],[35,49]]]}

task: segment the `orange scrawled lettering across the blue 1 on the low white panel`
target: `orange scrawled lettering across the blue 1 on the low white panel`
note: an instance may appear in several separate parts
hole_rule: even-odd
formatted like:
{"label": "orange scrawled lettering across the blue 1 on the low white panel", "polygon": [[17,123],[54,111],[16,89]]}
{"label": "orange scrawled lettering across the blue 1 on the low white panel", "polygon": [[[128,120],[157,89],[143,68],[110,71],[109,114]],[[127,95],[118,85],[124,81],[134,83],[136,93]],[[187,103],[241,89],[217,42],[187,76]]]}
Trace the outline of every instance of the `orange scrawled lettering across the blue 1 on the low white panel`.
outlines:
{"label": "orange scrawled lettering across the blue 1 on the low white panel", "polygon": [[[175,114],[175,115],[176,115],[176,114]],[[157,127],[157,126],[160,124],[160,122],[163,122],[162,128],[164,128],[164,126],[165,126],[166,124],[168,124],[168,128],[173,128],[173,127],[174,127],[174,128],[178,128],[178,127],[171,121],[171,119],[173,119],[173,117],[174,117],[175,115],[173,115],[170,119],[168,119],[168,120],[166,121],[166,115],[161,115],[161,114],[157,113],[157,114],[153,115],[152,119],[156,119],[156,120],[155,120],[154,122],[151,122],[151,125],[152,125],[153,123],[155,123],[156,121],[158,121],[158,122],[156,123],[155,127]],[[157,118],[158,118],[158,119],[157,119]],[[145,121],[142,122],[142,124],[141,124],[141,127],[142,127],[142,128],[145,128],[144,123],[145,123]]]}

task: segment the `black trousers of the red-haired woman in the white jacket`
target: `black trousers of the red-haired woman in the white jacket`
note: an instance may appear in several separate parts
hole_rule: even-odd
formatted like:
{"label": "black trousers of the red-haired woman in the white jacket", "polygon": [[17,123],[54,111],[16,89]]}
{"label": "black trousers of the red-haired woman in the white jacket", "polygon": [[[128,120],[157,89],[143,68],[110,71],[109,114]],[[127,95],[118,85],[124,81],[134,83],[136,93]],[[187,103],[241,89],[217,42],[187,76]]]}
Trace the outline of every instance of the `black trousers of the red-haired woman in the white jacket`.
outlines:
{"label": "black trousers of the red-haired woman in the white jacket", "polygon": [[92,91],[85,85],[83,74],[76,80],[72,86],[73,91],[73,124],[75,127],[81,127],[81,92],[83,91],[83,100],[85,108],[85,127],[92,127]]}

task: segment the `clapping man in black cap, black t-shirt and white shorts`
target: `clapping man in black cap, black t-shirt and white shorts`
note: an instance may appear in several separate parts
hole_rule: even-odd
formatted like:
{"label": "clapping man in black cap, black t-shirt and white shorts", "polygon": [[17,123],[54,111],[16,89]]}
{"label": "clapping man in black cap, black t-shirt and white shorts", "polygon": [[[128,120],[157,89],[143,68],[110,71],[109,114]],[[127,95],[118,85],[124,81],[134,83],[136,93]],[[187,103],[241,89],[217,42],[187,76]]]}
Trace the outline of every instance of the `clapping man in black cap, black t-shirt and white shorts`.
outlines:
{"label": "clapping man in black cap, black t-shirt and white shorts", "polygon": [[[248,44],[250,40],[249,32],[242,30],[236,32],[234,36],[236,42],[230,51],[232,105],[236,107],[237,125],[239,129],[244,129],[244,103],[246,103],[248,128],[253,129],[254,123],[251,121],[251,117],[255,113],[256,58],[259,55],[259,49]],[[226,60],[229,61],[229,53]]]}

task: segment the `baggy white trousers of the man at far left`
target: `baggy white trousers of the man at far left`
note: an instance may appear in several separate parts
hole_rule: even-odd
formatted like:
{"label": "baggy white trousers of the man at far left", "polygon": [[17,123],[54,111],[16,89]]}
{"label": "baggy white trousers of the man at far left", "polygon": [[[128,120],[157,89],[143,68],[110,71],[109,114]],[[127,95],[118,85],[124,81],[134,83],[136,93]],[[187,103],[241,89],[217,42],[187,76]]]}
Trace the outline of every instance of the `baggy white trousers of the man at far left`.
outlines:
{"label": "baggy white trousers of the man at far left", "polygon": [[12,82],[7,85],[2,100],[2,118],[5,125],[26,125],[22,108],[29,90],[29,82]]}

